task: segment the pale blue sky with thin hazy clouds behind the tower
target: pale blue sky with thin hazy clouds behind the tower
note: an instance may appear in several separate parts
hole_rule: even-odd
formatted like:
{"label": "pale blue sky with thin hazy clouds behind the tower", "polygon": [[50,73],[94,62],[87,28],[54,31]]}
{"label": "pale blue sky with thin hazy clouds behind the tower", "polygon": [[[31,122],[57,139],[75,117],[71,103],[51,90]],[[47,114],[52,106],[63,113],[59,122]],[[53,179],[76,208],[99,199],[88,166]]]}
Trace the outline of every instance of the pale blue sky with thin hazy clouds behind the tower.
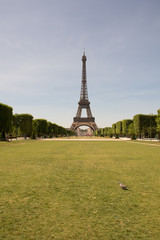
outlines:
{"label": "pale blue sky with thin hazy clouds behind the tower", "polygon": [[98,127],[157,113],[159,0],[0,0],[0,102],[70,127],[83,48]]}

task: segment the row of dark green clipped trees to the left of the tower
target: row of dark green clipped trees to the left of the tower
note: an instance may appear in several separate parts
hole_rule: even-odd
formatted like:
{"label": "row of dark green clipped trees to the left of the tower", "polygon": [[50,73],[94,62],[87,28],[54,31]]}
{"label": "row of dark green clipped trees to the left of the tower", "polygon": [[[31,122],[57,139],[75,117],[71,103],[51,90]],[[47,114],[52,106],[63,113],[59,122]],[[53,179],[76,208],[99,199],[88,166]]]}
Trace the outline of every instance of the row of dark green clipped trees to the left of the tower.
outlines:
{"label": "row of dark green clipped trees to the left of the tower", "polygon": [[58,137],[72,136],[74,132],[46,119],[33,119],[30,114],[14,114],[13,108],[0,103],[0,139],[6,137]]}

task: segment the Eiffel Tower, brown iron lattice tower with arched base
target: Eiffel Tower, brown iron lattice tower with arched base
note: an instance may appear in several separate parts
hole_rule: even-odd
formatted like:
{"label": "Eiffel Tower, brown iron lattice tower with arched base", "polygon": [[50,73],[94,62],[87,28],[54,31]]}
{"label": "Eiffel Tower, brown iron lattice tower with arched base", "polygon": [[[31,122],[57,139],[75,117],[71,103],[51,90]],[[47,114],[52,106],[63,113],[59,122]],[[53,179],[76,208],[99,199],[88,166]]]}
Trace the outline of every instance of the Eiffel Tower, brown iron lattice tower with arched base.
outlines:
{"label": "Eiffel Tower, brown iron lattice tower with arched base", "polygon": [[[75,131],[80,126],[88,126],[93,131],[98,129],[95,123],[95,118],[92,116],[92,112],[90,109],[90,102],[88,100],[86,61],[87,61],[87,58],[84,52],[82,56],[82,82],[81,82],[80,101],[78,102],[78,110],[77,110],[76,117],[73,118],[73,123],[70,127],[72,131]],[[82,109],[86,109],[87,117],[81,117]]]}

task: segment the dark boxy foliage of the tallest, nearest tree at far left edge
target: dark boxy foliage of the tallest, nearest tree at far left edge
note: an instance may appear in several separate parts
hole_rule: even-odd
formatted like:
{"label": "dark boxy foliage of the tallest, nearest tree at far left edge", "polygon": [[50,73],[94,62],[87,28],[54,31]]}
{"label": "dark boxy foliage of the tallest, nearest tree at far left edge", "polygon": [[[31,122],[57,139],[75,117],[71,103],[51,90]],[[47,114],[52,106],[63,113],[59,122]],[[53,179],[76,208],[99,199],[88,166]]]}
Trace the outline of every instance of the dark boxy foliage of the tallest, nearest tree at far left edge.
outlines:
{"label": "dark boxy foliage of the tallest, nearest tree at far left edge", "polygon": [[12,107],[0,103],[0,132],[9,133],[12,128]]}

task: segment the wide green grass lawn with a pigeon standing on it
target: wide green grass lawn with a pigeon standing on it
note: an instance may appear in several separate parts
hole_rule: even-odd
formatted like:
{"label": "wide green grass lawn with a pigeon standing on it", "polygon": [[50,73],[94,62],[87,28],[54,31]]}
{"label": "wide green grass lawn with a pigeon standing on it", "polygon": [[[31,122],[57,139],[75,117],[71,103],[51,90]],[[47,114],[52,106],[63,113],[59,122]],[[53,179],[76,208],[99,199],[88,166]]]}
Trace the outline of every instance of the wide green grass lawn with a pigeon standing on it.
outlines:
{"label": "wide green grass lawn with a pigeon standing on it", "polygon": [[1,142],[0,185],[0,239],[160,239],[160,146]]}

